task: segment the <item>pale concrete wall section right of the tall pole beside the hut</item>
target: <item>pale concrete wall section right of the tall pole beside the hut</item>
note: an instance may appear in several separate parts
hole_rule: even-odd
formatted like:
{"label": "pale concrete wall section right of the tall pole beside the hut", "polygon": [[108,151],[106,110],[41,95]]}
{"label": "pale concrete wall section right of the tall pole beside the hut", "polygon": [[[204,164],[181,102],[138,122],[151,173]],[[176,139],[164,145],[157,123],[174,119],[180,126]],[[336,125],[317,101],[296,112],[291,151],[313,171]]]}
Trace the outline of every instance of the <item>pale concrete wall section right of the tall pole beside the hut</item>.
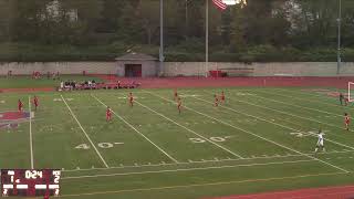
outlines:
{"label": "pale concrete wall section right of the tall pole beside the hut", "polygon": [[[218,69],[253,69],[252,76],[335,76],[336,62],[287,62],[287,63],[216,63],[208,64],[208,71]],[[165,76],[205,75],[206,64],[202,62],[169,62],[164,65]],[[354,63],[342,63],[340,75],[353,76]]]}

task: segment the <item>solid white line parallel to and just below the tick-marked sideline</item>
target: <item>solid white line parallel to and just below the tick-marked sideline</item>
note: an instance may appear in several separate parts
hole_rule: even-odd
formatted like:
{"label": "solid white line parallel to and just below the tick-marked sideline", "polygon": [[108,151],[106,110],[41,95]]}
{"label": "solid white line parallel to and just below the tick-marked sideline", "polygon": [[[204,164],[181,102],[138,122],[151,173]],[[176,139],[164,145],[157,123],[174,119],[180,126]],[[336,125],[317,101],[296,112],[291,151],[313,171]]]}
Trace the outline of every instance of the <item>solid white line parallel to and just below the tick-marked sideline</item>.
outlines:
{"label": "solid white line parallel to and just below the tick-marked sideline", "polygon": [[226,165],[226,166],[219,166],[219,167],[195,167],[195,168],[185,168],[185,169],[149,170],[149,171],[138,171],[138,172],[115,172],[115,174],[104,174],[104,175],[63,177],[62,180],[83,179],[83,178],[100,178],[100,177],[112,177],[112,176],[131,176],[131,175],[144,175],[144,174],[165,174],[165,172],[179,172],[179,171],[194,171],[194,170],[210,170],[210,169],[253,167],[253,166],[267,166],[267,165],[284,165],[284,164],[299,164],[299,163],[309,163],[309,161],[317,161],[317,160],[316,159],[303,159],[303,160],[293,160],[293,161],[273,161],[273,163],[262,163],[262,164]]}

